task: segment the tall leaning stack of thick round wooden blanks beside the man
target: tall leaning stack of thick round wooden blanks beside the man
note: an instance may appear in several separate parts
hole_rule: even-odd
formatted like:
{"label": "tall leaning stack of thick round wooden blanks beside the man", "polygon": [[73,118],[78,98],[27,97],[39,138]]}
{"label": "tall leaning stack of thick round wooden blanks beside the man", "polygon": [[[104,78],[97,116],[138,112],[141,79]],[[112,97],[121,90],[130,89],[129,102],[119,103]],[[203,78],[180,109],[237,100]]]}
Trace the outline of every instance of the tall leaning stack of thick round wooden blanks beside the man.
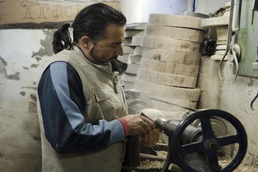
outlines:
{"label": "tall leaning stack of thick round wooden blanks beside the man", "polygon": [[200,89],[196,88],[196,81],[206,30],[200,25],[201,19],[149,15],[142,36],[142,58],[134,89],[149,95],[153,108],[161,110],[167,118],[172,118],[172,112],[185,111],[182,106],[195,109],[199,100]]}

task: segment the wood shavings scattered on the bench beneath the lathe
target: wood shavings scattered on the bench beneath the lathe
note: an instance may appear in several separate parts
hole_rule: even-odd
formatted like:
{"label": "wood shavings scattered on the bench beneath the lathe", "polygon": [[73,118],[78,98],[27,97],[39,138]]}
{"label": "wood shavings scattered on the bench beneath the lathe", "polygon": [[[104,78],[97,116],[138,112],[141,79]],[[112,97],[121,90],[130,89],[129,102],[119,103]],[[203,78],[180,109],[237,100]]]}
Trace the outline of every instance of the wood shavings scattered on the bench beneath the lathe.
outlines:
{"label": "wood shavings scattered on the bench beneath the lathe", "polygon": [[[166,151],[157,151],[158,157],[167,157]],[[225,168],[228,164],[230,164],[232,159],[228,156],[219,157],[219,164],[222,168]],[[145,160],[140,163],[139,169],[162,169],[165,161],[150,161]],[[136,171],[132,171],[136,172]],[[242,163],[234,172],[258,172],[258,168],[250,166],[248,164]]]}

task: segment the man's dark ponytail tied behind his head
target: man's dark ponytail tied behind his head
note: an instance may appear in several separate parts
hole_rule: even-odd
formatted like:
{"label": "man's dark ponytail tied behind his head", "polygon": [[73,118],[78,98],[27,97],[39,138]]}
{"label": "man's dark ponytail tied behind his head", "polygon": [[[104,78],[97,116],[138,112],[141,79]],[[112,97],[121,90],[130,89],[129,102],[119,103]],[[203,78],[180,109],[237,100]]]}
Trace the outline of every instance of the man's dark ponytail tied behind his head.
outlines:
{"label": "man's dark ponytail tied behind his head", "polygon": [[63,24],[58,30],[54,32],[52,44],[55,54],[62,51],[63,49],[71,49],[72,43],[68,30],[70,25],[70,23]]}

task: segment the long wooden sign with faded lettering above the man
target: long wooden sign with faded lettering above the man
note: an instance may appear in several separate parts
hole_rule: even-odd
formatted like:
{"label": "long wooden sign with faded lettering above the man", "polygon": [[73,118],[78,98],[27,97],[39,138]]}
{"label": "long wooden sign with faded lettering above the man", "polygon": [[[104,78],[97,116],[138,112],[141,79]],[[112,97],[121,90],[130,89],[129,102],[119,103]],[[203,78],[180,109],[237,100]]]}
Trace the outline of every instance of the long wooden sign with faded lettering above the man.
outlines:
{"label": "long wooden sign with faded lettering above the man", "polygon": [[[75,15],[87,5],[96,2],[53,0],[1,0],[0,24],[62,22],[74,20]],[[119,8],[119,1],[103,2]]]}

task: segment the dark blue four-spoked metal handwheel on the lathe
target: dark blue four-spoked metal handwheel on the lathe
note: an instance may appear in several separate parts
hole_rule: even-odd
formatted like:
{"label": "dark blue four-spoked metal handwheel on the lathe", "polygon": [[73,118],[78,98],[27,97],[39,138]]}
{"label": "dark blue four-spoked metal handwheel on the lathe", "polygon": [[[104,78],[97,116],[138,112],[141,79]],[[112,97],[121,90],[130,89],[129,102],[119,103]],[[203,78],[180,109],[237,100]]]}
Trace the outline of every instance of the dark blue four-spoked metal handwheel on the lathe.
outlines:
{"label": "dark blue four-spoked metal handwheel on the lathe", "polygon": [[[227,120],[236,129],[236,134],[223,137],[216,137],[213,133],[211,118],[220,117]],[[202,138],[199,141],[189,144],[182,144],[183,132],[195,120],[201,120]],[[239,150],[230,164],[221,168],[218,161],[217,151],[220,147],[238,144]],[[228,112],[218,109],[205,109],[193,112],[188,115],[177,126],[171,140],[171,153],[173,160],[184,172],[203,172],[198,168],[189,166],[185,157],[192,153],[206,155],[208,172],[233,172],[243,161],[247,152],[247,134],[241,122]]]}

